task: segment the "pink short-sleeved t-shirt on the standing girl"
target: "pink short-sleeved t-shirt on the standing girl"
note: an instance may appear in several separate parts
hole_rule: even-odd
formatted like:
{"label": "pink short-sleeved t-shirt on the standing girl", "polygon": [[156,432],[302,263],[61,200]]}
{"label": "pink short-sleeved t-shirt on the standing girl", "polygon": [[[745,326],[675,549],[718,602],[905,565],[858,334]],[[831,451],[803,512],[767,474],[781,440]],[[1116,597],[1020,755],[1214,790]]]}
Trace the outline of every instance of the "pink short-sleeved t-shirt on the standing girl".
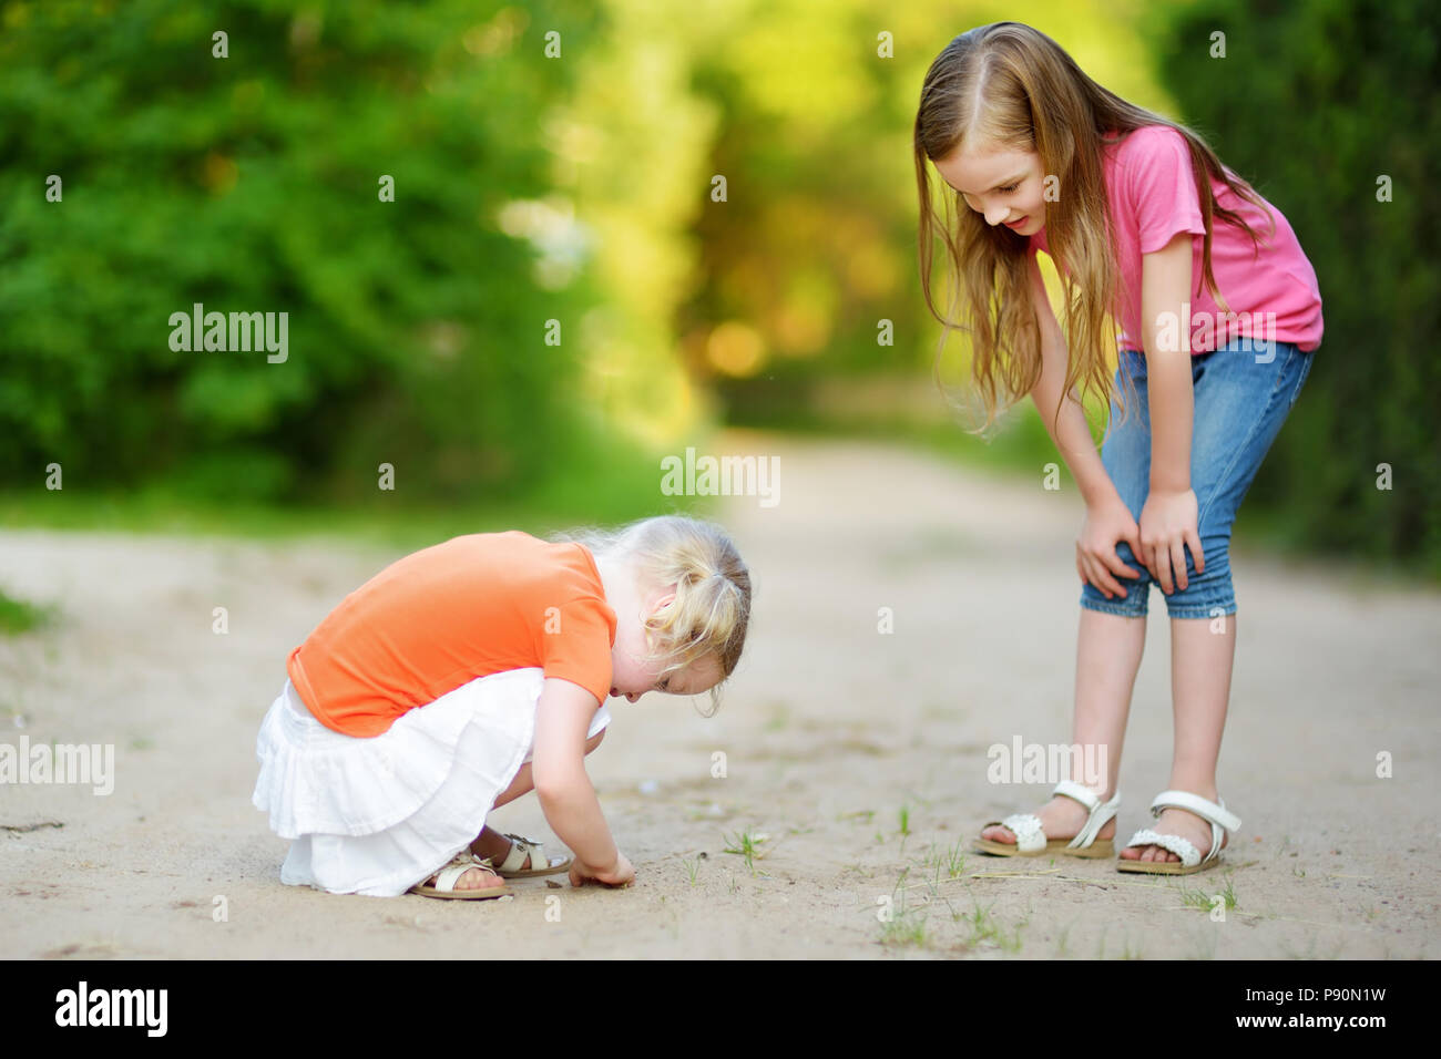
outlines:
{"label": "pink short-sleeved t-shirt on the standing girl", "polygon": [[[1265,215],[1223,183],[1210,182],[1218,205],[1241,213],[1261,246],[1258,255],[1251,236],[1212,215],[1210,271],[1233,314],[1226,316],[1202,282],[1206,228],[1200,220],[1200,192],[1185,137],[1170,125],[1143,125],[1118,143],[1107,143],[1102,161],[1117,229],[1120,281],[1131,294],[1128,313],[1117,303],[1120,349],[1143,349],[1141,255],[1161,249],[1177,232],[1192,233],[1192,353],[1210,352],[1238,336],[1290,341],[1307,352],[1321,344],[1321,292],[1316,269],[1281,210],[1267,202],[1275,218],[1275,238],[1268,242]],[[1045,229],[1030,236],[1030,249],[1050,252]],[[1056,267],[1069,272],[1061,261]]]}

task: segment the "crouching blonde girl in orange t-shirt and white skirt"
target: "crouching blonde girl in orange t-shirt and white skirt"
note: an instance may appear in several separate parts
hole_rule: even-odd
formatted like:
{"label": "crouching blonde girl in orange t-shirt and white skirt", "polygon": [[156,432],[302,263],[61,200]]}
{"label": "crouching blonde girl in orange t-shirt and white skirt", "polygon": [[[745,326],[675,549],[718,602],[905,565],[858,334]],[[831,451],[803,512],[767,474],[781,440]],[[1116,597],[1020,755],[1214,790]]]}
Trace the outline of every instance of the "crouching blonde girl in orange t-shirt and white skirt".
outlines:
{"label": "crouching blonde girl in orange t-shirt and white skirt", "polygon": [[[712,523],[664,516],[539,540],[473,533],[409,555],[287,660],[254,804],[291,839],[281,882],[499,898],[569,869],[628,885],[584,758],[605,700],[710,692],[745,644],[751,575]],[[575,857],[484,826],[535,790]]]}

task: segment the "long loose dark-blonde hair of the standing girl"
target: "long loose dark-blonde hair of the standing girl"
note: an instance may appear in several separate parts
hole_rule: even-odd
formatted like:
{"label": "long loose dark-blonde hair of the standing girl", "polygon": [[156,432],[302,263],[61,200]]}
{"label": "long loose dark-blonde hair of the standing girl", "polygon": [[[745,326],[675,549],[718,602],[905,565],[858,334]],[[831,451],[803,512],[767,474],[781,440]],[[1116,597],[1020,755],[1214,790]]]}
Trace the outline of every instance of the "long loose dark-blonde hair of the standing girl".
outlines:
{"label": "long loose dark-blonde hair of the standing girl", "polygon": [[[1245,219],[1216,202],[1210,180],[1223,182],[1268,218],[1271,215],[1265,200],[1225,169],[1197,134],[1101,88],[1055,40],[1019,22],[997,22],[960,35],[927,71],[914,140],[921,196],[921,287],[927,307],[945,329],[935,362],[942,393],[940,357],[945,336],[953,327],[971,336],[971,376],[986,402],[986,424],[973,434],[996,421],[999,398],[1009,406],[1040,380],[1040,329],[1032,311],[1029,238],[1004,225],[986,223],[960,192],[947,196],[947,223],[938,223],[931,210],[927,160],[945,158],[964,140],[976,140],[1039,154],[1042,173],[1059,176],[1065,193],[1046,203],[1046,245],[1071,272],[1069,277],[1062,274],[1069,357],[1055,415],[1059,422],[1065,395],[1078,382],[1082,398],[1087,392],[1105,403],[1112,398],[1110,363],[1115,354],[1115,331],[1107,324],[1107,316],[1134,305],[1128,297],[1121,300],[1124,307],[1115,304],[1120,280],[1101,148],[1108,133],[1124,137],[1143,125],[1167,125],[1186,138],[1206,226],[1202,280],[1218,307],[1229,311],[1210,271],[1212,218],[1245,229],[1252,245],[1258,243]],[[950,222],[953,205],[958,213],[954,223]],[[951,307],[965,303],[964,324],[942,317],[931,300],[931,245],[937,232],[955,271]],[[1275,233],[1274,218],[1271,233]]]}

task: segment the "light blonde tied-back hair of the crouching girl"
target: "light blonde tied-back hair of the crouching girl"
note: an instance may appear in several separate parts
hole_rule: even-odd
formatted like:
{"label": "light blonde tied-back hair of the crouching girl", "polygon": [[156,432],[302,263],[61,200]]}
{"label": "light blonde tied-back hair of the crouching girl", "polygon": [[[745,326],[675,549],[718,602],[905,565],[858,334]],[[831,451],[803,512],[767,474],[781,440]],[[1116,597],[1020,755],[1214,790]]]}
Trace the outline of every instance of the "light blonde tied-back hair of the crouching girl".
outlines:
{"label": "light blonde tied-back hair of the crouching girl", "polygon": [[[663,514],[617,530],[588,527],[550,539],[585,545],[597,559],[631,562],[643,594],[676,586],[676,598],[644,620],[647,661],[663,664],[660,676],[708,654],[720,663],[722,682],[735,671],[751,621],[751,571],[723,529]],[[710,713],[719,706],[718,684],[710,689]]]}

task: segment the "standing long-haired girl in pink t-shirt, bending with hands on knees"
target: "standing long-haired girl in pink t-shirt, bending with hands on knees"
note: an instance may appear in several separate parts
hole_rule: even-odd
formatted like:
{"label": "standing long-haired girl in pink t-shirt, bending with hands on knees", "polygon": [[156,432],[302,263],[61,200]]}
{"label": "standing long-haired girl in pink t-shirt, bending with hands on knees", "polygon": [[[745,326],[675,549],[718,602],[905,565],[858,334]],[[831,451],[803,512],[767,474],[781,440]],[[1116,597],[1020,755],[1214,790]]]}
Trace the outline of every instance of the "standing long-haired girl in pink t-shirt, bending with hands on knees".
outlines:
{"label": "standing long-haired girl in pink t-shirt, bending with hands on knees", "polygon": [[[947,184],[944,222],[927,163]],[[1236,635],[1231,526],[1320,344],[1316,272],[1280,210],[1199,135],[1101,88],[1020,23],[964,33],[932,62],[915,164],[927,304],[970,336],[986,426],[999,403],[1030,395],[1085,500],[1072,729],[1082,754],[1050,803],[987,824],[977,844],[1111,856],[1154,581],[1172,618],[1176,748],[1154,830],[1131,837],[1118,867],[1208,867],[1241,826],[1216,790]],[[931,301],[937,226],[960,321]],[[1062,277],[1065,333],[1038,251]],[[1111,411],[1099,455],[1088,392]],[[1082,761],[1105,765],[1082,775]]]}

